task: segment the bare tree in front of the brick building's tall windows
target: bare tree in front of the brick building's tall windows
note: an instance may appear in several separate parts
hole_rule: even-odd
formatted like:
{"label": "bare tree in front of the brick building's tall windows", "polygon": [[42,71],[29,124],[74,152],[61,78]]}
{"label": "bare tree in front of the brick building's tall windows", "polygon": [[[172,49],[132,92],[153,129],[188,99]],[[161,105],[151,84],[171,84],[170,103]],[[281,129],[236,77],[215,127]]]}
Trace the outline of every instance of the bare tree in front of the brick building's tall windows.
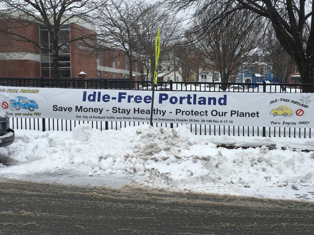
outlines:
{"label": "bare tree in front of the brick building's tall windows", "polygon": [[[0,32],[8,35],[14,40],[30,42],[41,50],[50,51],[52,54],[52,64],[54,78],[59,78],[59,53],[66,44],[92,38],[95,34],[90,30],[78,29],[81,35],[75,37],[62,37],[62,28],[69,22],[77,22],[79,18],[86,16],[99,7],[99,3],[94,0],[2,0],[0,8],[5,9],[2,17],[9,22],[8,28],[0,28]],[[38,41],[25,37],[14,28],[27,27],[31,24],[38,24],[49,31],[52,48],[42,46]],[[10,30],[8,30],[10,29]]]}

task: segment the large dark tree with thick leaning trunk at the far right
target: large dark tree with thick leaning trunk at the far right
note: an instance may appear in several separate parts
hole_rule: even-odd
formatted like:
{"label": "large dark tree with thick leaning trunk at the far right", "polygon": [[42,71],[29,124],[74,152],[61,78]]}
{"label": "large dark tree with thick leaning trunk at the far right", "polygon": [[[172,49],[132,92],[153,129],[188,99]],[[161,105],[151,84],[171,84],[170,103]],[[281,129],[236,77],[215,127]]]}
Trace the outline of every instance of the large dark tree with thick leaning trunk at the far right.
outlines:
{"label": "large dark tree with thick leaning trunk at the far right", "polygon": [[[212,6],[220,8],[219,14],[208,19],[202,27],[210,30],[214,21],[247,9],[267,21],[274,29],[276,38],[299,68],[303,83],[314,84],[314,18],[311,1],[279,0],[173,0],[177,9],[197,6],[195,16]],[[227,6],[227,7],[226,7]],[[304,87],[314,92],[314,86]]]}

